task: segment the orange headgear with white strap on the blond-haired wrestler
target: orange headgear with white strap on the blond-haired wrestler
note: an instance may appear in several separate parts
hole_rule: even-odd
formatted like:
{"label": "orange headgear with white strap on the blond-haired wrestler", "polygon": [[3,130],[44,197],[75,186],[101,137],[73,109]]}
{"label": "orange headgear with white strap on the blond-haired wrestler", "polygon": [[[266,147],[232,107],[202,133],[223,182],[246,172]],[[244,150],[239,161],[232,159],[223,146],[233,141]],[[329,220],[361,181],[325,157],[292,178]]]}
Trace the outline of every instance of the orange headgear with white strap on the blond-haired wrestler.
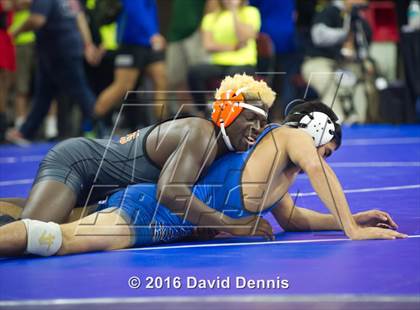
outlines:
{"label": "orange headgear with white strap on the blond-haired wrestler", "polygon": [[267,113],[263,109],[245,103],[243,91],[244,88],[236,91],[228,90],[216,98],[213,103],[211,119],[217,126],[220,127],[223,123],[225,128],[228,127],[241,114],[243,109],[249,109],[267,117]]}

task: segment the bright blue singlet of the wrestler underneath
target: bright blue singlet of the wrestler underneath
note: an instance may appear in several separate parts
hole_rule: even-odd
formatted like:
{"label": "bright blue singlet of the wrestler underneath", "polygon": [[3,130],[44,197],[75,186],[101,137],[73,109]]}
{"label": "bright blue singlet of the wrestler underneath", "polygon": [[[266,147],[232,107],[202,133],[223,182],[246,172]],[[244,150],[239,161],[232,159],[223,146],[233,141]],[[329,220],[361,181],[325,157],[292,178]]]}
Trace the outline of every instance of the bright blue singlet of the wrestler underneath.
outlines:
{"label": "bright blue singlet of the wrestler underneath", "polygon": [[[232,218],[241,218],[263,212],[251,213],[244,209],[242,200],[241,176],[243,168],[255,146],[271,130],[280,127],[277,124],[267,126],[256,143],[243,153],[228,153],[216,160],[207,175],[201,177],[192,188],[193,194],[210,208]],[[145,246],[163,242],[172,242],[189,236],[193,225],[156,199],[156,184],[141,183],[131,185],[109,196],[99,203],[98,211],[117,207],[121,215],[133,227],[135,241],[133,246]]]}

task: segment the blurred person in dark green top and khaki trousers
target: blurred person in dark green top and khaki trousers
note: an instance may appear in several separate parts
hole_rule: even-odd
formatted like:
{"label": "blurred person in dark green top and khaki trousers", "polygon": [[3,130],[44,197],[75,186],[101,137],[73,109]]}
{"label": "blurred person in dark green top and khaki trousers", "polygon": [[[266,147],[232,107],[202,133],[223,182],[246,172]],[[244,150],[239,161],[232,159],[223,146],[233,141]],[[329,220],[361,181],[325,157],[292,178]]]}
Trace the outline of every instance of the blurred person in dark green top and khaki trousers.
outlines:
{"label": "blurred person in dark green top and khaki trousers", "polygon": [[[188,69],[206,61],[200,23],[204,13],[217,9],[215,0],[174,0],[167,34],[166,65],[170,90],[180,91],[179,100],[190,102],[187,94]],[[186,107],[190,111],[189,107]]]}

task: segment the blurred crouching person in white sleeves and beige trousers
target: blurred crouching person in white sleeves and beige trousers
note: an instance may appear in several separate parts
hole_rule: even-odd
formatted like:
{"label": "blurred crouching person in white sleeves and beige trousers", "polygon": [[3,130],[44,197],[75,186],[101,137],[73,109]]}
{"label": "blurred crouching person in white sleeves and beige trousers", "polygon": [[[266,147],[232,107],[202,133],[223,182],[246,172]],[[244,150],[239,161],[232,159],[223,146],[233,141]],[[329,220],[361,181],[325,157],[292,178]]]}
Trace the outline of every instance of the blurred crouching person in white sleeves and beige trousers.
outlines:
{"label": "blurred crouching person in white sleeves and beige trousers", "polygon": [[363,4],[366,0],[333,1],[315,15],[313,47],[302,66],[304,78],[322,101],[331,106],[336,98],[332,108],[348,123],[365,120],[367,96],[374,92],[366,74],[373,71],[367,59],[371,30],[356,7]]}

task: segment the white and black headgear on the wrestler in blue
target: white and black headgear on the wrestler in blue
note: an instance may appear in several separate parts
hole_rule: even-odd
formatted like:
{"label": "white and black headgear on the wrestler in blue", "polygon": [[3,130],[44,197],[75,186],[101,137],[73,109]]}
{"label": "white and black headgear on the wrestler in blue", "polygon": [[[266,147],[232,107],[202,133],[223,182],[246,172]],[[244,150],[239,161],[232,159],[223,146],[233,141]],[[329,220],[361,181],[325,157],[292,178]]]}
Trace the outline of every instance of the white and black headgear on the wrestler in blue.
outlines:
{"label": "white and black headgear on the wrestler in blue", "polygon": [[[294,128],[300,128],[307,132],[312,139],[314,140],[315,147],[319,147],[322,145],[327,144],[328,142],[332,141],[334,138],[337,138],[337,126],[339,126],[337,121],[337,117],[335,116],[335,119],[332,119],[330,116],[328,116],[326,113],[321,111],[293,111],[297,105],[306,103],[305,100],[302,99],[296,99],[290,102],[285,109],[285,116],[287,120],[287,116],[289,113],[291,113],[289,117],[291,121],[286,121],[284,124],[294,127]],[[293,117],[296,116],[296,117]],[[338,144],[341,141],[338,140]],[[339,145],[337,145],[338,147]]]}

